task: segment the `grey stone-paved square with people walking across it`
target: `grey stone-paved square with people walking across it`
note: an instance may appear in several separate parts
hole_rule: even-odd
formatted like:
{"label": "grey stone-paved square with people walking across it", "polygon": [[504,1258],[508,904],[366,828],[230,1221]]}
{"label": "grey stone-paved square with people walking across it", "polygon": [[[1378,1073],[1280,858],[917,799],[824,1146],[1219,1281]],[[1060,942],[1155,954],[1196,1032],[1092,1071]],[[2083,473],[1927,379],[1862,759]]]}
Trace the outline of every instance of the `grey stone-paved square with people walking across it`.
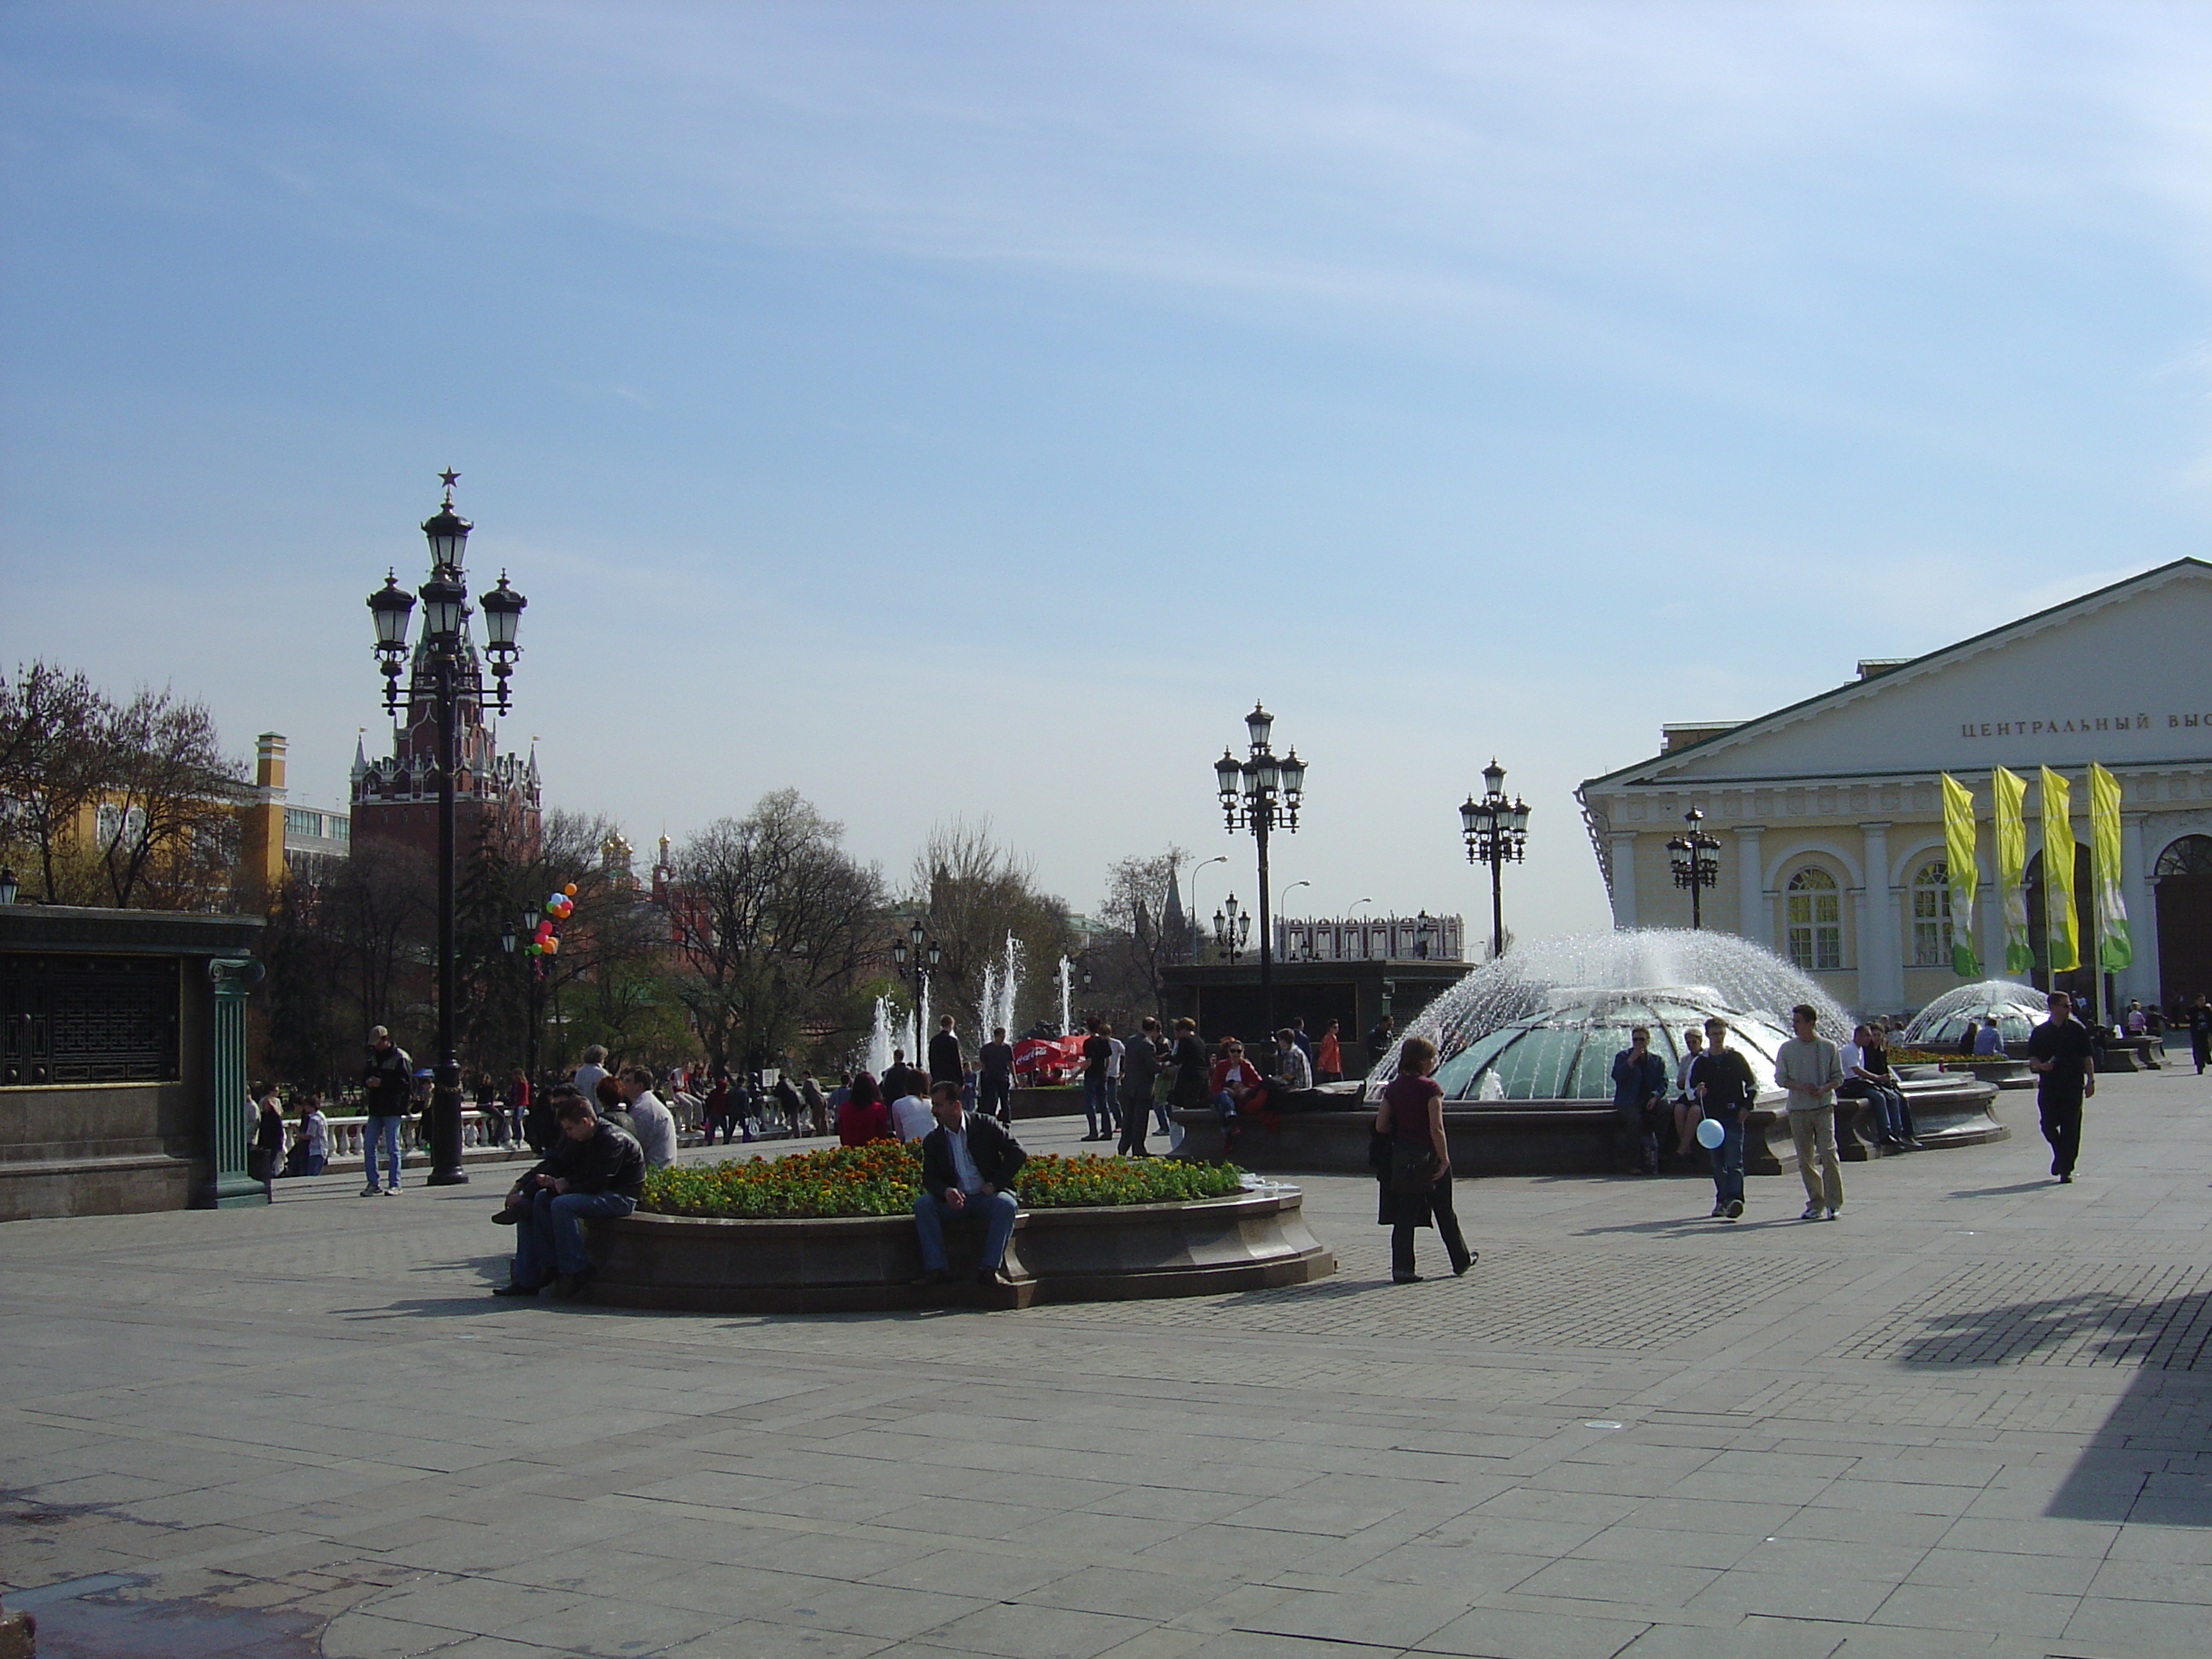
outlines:
{"label": "grey stone-paved square with people walking across it", "polygon": [[2199,1655],[2212,1079],[2070,1188],[2000,1110],[1836,1223],[1475,1181],[1398,1287],[1314,1177],[1336,1279],[1024,1314],[493,1301],[484,1166],[15,1223],[0,1584],[49,1659]]}

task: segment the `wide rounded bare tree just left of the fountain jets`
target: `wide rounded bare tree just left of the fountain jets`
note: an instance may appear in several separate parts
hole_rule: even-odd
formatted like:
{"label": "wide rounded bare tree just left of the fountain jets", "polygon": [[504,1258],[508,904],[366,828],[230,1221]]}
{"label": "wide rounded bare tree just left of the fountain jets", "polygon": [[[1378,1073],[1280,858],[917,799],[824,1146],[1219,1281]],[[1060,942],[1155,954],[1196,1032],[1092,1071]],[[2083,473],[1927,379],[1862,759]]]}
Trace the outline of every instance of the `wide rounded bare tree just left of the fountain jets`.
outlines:
{"label": "wide rounded bare tree just left of the fountain jets", "polygon": [[677,993],[712,1066],[768,1064],[858,1031],[860,971],[883,931],[883,876],[796,790],[719,818],[675,860]]}

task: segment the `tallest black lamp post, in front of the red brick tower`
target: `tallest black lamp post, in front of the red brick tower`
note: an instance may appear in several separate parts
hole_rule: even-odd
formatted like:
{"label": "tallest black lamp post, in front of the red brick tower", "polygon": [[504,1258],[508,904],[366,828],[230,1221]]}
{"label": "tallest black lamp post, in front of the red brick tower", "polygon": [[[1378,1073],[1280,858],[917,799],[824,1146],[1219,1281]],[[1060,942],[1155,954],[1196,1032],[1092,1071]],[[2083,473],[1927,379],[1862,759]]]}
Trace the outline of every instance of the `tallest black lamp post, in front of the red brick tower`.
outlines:
{"label": "tallest black lamp post, in front of the red brick tower", "polygon": [[[438,473],[445,500],[422,522],[429,540],[429,580],[407,593],[398,575],[385,575],[385,586],[369,595],[376,619],[376,655],[385,675],[385,712],[398,714],[407,703],[407,723],[434,721],[438,732],[438,1077],[429,1106],[429,1183],[460,1186],[469,1179],[460,1168],[460,1051],[453,1044],[453,783],[460,752],[460,706],[476,703],[509,710],[507,677],[515,672],[515,624],[526,604],[520,593],[500,586],[484,593],[484,650],[491,655],[493,692],[487,699],[484,670],[469,637],[467,573],[473,524],[453,511],[453,484],[460,473]],[[414,675],[400,695],[400,668],[409,655],[407,624],[416,599],[422,599],[422,635],[414,646]]]}

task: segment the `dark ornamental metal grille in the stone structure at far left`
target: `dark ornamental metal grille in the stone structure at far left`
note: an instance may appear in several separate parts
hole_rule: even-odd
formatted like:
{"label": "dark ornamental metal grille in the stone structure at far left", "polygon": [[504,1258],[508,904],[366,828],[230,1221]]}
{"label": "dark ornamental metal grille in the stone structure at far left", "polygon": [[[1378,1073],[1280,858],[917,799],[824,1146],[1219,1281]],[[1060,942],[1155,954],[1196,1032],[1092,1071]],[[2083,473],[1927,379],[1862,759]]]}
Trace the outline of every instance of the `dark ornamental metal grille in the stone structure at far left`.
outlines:
{"label": "dark ornamental metal grille in the stone structure at far left", "polygon": [[177,958],[0,953],[0,1088],[177,1075]]}

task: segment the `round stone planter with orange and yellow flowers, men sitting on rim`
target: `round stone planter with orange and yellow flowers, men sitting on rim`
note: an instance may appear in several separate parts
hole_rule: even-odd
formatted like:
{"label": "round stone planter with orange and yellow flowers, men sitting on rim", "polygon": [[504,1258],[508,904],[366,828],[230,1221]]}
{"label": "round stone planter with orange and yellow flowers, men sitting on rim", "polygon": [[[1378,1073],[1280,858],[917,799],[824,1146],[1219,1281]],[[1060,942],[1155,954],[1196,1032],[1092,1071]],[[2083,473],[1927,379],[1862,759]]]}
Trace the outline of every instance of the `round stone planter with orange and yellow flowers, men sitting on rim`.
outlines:
{"label": "round stone planter with orange and yellow flowers, men sitting on rim", "polygon": [[714,1314],[896,1310],[947,1298],[1199,1296],[1303,1285],[1336,1272],[1296,1188],[1245,1190],[1234,1164],[1033,1157],[1006,1272],[973,1283],[982,1228],[951,1221],[962,1283],[916,1285],[920,1155],[876,1141],[774,1159],[653,1170],[635,1214],[586,1223],[591,1301]]}

